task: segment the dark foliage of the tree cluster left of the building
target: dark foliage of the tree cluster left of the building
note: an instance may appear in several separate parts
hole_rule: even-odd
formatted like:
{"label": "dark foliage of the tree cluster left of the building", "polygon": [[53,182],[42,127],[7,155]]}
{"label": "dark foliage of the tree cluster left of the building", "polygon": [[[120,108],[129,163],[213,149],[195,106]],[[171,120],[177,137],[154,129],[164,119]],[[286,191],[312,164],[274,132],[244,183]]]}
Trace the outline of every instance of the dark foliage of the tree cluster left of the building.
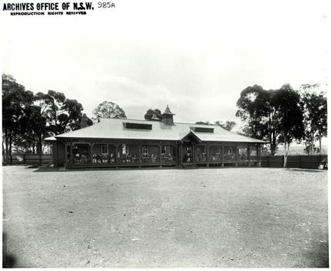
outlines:
{"label": "dark foliage of the tree cluster left of the building", "polygon": [[12,150],[43,153],[43,138],[79,129],[82,105],[49,90],[34,95],[11,75],[2,75],[3,156],[11,163]]}

